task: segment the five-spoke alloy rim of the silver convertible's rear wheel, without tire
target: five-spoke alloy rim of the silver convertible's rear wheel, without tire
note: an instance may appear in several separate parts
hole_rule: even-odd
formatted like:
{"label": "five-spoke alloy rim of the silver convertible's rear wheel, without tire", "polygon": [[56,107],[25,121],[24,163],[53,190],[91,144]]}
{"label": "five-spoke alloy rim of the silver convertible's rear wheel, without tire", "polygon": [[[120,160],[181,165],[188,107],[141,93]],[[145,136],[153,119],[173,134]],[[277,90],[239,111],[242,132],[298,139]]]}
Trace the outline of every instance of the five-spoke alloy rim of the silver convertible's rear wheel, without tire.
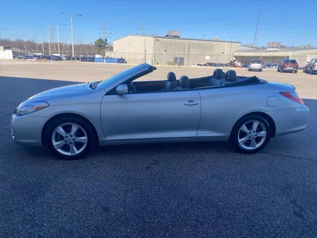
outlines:
{"label": "five-spoke alloy rim of the silver convertible's rear wheel, without tire", "polygon": [[259,120],[245,122],[238,131],[239,145],[247,150],[259,148],[265,141],[266,128]]}

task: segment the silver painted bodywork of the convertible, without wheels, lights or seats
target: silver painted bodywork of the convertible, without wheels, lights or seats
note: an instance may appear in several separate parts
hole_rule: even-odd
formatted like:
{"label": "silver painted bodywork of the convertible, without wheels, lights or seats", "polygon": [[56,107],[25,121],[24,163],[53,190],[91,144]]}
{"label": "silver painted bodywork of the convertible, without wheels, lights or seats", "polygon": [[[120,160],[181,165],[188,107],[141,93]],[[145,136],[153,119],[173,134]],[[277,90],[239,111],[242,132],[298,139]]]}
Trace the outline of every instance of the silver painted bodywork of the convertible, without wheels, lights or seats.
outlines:
{"label": "silver painted bodywork of the convertible, without wheels, lights or seats", "polygon": [[[153,71],[153,70],[152,70]],[[249,113],[271,117],[275,136],[306,128],[309,109],[279,92],[295,92],[291,85],[208,87],[170,92],[108,94],[129,78],[151,72],[141,64],[132,75],[104,81],[93,90],[77,84],[48,90],[25,102],[45,101],[50,106],[11,118],[14,141],[42,145],[42,130],[54,116],[80,115],[96,129],[100,145],[163,141],[227,140],[234,124]],[[277,99],[276,99],[277,98]]]}

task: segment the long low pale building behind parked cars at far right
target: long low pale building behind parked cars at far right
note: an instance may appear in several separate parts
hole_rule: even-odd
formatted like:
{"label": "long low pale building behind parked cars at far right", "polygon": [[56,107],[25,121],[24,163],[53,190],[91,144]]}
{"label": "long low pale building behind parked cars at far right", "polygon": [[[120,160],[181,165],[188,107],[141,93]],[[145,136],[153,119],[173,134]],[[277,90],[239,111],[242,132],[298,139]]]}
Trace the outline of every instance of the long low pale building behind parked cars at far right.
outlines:
{"label": "long low pale building behind parked cars at far right", "polygon": [[259,59],[263,63],[278,63],[283,59],[294,59],[299,66],[305,66],[307,61],[317,57],[317,48],[287,48],[287,49],[258,49],[235,51],[233,58],[239,64],[249,63],[250,60]]}

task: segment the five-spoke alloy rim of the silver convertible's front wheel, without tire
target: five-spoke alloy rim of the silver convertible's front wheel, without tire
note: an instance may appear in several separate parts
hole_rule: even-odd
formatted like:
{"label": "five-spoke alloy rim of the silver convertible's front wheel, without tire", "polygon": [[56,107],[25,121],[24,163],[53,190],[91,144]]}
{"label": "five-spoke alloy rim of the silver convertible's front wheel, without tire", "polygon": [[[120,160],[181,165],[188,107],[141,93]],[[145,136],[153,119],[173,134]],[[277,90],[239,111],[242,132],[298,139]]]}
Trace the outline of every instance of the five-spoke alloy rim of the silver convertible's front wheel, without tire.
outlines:
{"label": "five-spoke alloy rim of the silver convertible's front wheel, without tire", "polygon": [[87,142],[87,132],[76,123],[63,123],[53,130],[53,147],[63,155],[79,154],[86,148]]}

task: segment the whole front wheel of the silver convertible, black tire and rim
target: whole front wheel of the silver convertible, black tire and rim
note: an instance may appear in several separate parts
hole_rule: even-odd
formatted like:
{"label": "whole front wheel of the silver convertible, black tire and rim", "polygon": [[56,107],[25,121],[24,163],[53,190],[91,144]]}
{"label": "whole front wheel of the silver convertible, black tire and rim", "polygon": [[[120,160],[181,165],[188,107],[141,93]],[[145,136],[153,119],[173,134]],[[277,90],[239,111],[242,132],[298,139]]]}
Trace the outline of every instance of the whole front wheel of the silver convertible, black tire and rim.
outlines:
{"label": "whole front wheel of the silver convertible, black tire and rim", "polygon": [[74,116],[54,119],[45,133],[45,142],[51,152],[64,160],[85,156],[95,147],[96,138],[93,126],[86,119]]}

